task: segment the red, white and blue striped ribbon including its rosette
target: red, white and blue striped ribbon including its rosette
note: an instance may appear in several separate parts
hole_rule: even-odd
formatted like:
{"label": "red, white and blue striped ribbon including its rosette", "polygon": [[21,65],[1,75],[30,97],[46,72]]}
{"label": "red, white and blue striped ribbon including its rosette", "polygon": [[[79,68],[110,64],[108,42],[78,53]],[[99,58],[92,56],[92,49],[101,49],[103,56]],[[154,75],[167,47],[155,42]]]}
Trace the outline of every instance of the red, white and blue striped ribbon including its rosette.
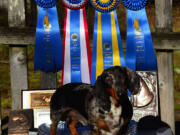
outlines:
{"label": "red, white and blue striped ribbon including its rosette", "polygon": [[84,8],[87,0],[62,0],[62,2],[66,7],[62,84],[90,83],[91,50]]}

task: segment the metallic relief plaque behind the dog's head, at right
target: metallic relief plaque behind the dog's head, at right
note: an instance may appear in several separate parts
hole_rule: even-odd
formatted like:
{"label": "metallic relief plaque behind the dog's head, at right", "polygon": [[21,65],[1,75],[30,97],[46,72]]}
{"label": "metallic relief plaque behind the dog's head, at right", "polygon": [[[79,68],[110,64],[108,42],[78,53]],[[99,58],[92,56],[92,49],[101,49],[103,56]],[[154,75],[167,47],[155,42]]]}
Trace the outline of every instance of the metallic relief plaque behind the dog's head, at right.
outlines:
{"label": "metallic relief plaque behind the dog's head, at right", "polygon": [[133,120],[139,121],[147,115],[158,115],[157,72],[137,71],[141,76],[140,92],[131,97],[133,104]]}

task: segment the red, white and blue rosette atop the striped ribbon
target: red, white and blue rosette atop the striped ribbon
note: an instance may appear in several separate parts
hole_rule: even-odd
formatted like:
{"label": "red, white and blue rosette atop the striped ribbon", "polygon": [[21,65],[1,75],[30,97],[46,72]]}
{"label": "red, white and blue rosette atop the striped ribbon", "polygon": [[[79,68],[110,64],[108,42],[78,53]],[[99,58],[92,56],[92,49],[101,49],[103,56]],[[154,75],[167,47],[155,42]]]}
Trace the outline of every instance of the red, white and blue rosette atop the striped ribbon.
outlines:
{"label": "red, white and blue rosette atop the striped ribbon", "polygon": [[88,0],[62,0],[62,4],[70,9],[80,9],[85,6]]}

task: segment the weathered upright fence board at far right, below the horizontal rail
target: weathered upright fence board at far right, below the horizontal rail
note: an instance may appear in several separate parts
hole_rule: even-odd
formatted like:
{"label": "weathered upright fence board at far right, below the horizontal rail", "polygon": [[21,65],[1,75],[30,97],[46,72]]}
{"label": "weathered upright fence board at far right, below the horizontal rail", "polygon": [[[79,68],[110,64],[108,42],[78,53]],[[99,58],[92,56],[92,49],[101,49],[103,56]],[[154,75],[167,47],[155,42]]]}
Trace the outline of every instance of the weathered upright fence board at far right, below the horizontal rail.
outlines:
{"label": "weathered upright fence board at far right, below the horizontal rail", "polygon": [[171,51],[157,53],[161,119],[168,123],[175,133],[172,57]]}

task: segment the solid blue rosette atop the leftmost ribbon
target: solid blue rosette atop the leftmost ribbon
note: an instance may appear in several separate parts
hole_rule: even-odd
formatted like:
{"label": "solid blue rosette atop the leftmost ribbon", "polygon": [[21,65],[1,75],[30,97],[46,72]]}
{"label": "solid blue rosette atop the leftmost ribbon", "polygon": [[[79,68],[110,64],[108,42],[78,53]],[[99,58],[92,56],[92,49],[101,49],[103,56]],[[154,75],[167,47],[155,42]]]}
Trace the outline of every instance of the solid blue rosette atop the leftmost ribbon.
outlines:
{"label": "solid blue rosette atop the leftmost ribbon", "polygon": [[42,8],[52,8],[56,5],[57,0],[35,0],[37,5]]}

